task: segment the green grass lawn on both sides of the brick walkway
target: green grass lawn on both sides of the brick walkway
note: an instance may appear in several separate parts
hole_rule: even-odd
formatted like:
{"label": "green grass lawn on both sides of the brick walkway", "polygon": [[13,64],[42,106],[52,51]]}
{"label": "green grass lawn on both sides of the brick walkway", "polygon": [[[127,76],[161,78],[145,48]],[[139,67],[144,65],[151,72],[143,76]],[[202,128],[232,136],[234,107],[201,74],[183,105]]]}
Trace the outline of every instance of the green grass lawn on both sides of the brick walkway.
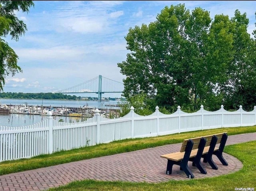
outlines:
{"label": "green grass lawn on both sides of the brick walkway", "polygon": [[[228,135],[256,132],[253,127],[218,128],[187,133],[176,133],[158,137],[138,139],[125,139],[113,141],[107,144],[99,144],[90,147],[82,147],[70,151],[60,151],[49,155],[40,155],[30,159],[4,161],[0,163],[0,175],[48,167],[72,161],[79,161],[117,153],[124,153],[166,144],[181,143],[183,139],[212,135],[214,133],[228,132]],[[244,149],[246,147],[246,149]],[[51,190],[235,190],[236,187],[254,187],[256,189],[256,141],[228,145],[225,153],[233,155],[243,163],[243,168],[232,174],[205,179],[190,179],[188,181],[168,181],[165,183],[128,183],[108,181],[75,181],[69,185]]]}

